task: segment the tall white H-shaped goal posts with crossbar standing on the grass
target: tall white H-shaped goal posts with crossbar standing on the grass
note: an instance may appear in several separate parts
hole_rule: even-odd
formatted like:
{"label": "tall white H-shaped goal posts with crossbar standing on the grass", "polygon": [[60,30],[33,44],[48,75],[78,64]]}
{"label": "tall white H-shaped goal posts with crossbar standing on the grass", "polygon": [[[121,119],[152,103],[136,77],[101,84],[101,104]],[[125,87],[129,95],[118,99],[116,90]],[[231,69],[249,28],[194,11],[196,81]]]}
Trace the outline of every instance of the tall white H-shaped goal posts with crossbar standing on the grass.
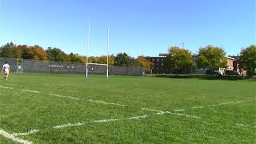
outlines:
{"label": "tall white H-shaped goal posts with crossbar standing on the grass", "polygon": [[[90,20],[88,22],[88,34],[87,34],[87,49],[86,49],[86,78],[88,78],[89,66],[91,70],[94,70],[94,66],[106,66],[106,79],[109,78],[109,45],[110,45],[110,30],[107,28],[107,46],[106,46],[106,64],[102,63],[90,63],[89,62],[89,49],[90,49]],[[99,72],[98,72],[99,73]]]}

